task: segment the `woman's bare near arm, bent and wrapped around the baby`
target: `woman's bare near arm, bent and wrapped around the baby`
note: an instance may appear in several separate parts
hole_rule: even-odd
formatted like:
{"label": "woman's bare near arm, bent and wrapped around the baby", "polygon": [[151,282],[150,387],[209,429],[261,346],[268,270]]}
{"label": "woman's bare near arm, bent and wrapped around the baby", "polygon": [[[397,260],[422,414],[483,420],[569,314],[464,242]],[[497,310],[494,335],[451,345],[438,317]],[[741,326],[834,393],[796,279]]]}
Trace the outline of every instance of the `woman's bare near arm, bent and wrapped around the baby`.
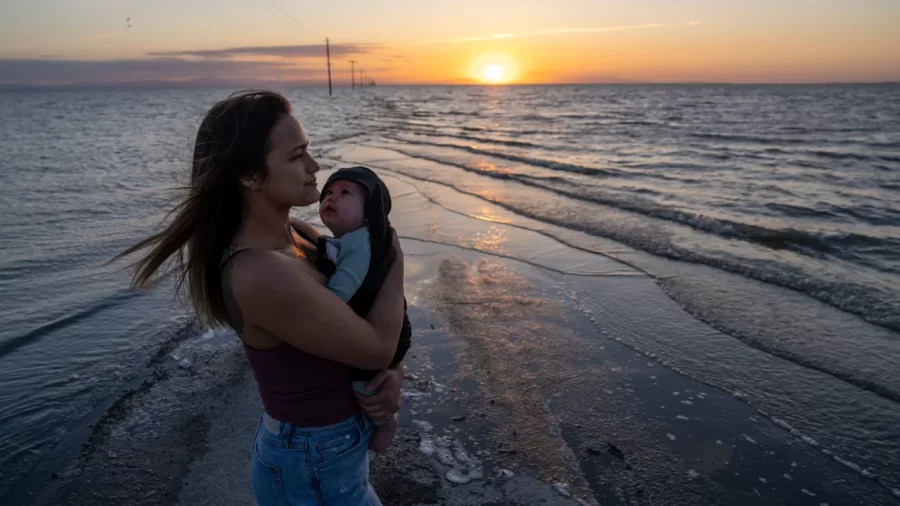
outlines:
{"label": "woman's bare near arm, bent and wrapped around the baby", "polygon": [[245,325],[307,353],[361,369],[390,365],[403,324],[403,254],[362,319],[300,260],[253,250],[235,258],[232,290]]}

